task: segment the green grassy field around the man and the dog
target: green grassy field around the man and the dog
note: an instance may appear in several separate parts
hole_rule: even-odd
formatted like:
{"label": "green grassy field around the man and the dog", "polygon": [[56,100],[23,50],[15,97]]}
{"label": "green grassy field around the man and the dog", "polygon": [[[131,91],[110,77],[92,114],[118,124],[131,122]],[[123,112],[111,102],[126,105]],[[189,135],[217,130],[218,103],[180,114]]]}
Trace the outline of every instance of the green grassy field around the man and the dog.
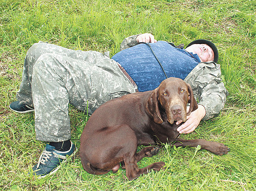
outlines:
{"label": "green grassy field around the man and the dog", "polygon": [[[0,0],[0,189],[2,190],[256,190],[256,4],[253,0]],[[72,49],[119,51],[124,38],[153,33],[187,45],[212,40],[219,48],[229,97],[223,111],[183,138],[205,138],[231,148],[216,156],[195,148],[171,148],[139,166],[167,168],[128,181],[124,170],[85,172],[77,153],[44,179],[27,175],[45,143],[35,140],[34,115],[13,113],[27,49],[47,41]],[[72,141],[78,146],[87,115],[70,107]]]}

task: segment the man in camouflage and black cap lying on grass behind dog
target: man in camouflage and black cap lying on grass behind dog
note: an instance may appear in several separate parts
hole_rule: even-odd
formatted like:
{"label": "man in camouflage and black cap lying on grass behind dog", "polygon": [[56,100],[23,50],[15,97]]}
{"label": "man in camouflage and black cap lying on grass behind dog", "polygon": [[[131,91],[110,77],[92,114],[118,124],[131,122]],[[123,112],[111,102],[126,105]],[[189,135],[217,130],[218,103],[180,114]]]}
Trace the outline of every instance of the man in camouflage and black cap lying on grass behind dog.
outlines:
{"label": "man in camouflage and black cap lying on grass behind dog", "polygon": [[198,100],[198,109],[177,129],[191,133],[200,120],[218,114],[226,101],[217,61],[218,50],[210,41],[195,40],[183,49],[183,45],[156,41],[149,33],[124,39],[121,52],[112,59],[94,51],[34,44],[25,57],[18,101],[10,104],[18,113],[34,111],[36,138],[49,142],[32,173],[52,174],[74,153],[68,104],[84,111],[88,103],[92,114],[110,99],[154,90],[168,77],[190,84]]}

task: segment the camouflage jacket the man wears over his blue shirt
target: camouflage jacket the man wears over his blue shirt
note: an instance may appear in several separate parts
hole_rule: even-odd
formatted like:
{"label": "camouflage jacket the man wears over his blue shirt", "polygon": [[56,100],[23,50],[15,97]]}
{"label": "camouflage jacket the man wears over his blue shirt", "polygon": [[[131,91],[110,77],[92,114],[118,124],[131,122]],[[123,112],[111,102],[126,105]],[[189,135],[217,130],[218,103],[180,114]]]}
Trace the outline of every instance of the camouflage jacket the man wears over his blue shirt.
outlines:
{"label": "camouflage jacket the man wears over his blue shirt", "polygon": [[[132,35],[124,39],[120,50],[138,45],[137,36]],[[211,119],[224,107],[228,92],[220,76],[220,65],[210,61],[200,62],[184,79],[191,85],[198,104],[205,108],[206,115],[202,120]]]}

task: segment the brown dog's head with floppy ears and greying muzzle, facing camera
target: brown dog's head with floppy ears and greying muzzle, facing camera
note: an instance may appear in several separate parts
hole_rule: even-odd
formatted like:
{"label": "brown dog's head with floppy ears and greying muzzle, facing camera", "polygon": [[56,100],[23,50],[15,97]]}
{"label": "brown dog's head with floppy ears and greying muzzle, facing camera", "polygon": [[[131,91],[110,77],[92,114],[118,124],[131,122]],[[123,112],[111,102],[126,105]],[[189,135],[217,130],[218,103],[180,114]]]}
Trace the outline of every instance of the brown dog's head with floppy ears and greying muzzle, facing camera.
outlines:
{"label": "brown dog's head with floppy ears and greying muzzle, facing camera", "polygon": [[[190,102],[189,112],[186,105]],[[191,86],[179,78],[168,78],[151,93],[147,103],[147,111],[153,116],[155,123],[163,123],[160,109],[164,109],[167,120],[173,124],[174,121],[186,121],[186,115],[195,111],[198,106],[193,96]]]}

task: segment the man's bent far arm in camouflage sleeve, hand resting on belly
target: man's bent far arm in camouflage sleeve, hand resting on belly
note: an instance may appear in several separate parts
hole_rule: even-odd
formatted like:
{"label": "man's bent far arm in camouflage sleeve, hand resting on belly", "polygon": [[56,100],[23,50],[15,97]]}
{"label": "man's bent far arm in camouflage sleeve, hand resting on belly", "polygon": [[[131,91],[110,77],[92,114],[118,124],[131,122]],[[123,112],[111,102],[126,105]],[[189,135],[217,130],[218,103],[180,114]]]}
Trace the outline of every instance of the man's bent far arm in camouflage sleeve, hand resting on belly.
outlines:
{"label": "man's bent far arm in camouflage sleeve, hand resting on belly", "polygon": [[120,46],[120,50],[124,50],[126,48],[133,47],[135,45],[139,45],[140,42],[151,42],[154,43],[156,42],[154,35],[150,33],[144,33],[144,34],[136,34],[129,36],[125,38]]}

